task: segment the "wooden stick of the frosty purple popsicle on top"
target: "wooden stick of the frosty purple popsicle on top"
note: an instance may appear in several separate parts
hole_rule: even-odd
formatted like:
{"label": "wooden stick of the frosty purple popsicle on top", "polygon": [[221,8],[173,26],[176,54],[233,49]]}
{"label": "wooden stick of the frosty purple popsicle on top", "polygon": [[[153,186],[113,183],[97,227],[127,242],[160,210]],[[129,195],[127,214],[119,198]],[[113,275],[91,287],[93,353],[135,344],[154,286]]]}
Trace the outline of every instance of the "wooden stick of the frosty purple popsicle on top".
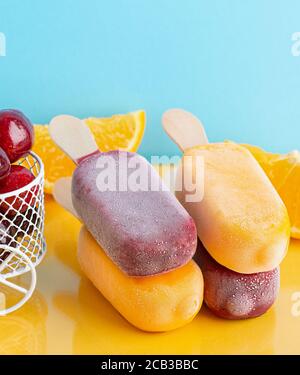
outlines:
{"label": "wooden stick of the frosty purple popsicle on top", "polygon": [[90,129],[77,117],[54,117],[49,124],[49,133],[58,147],[76,164],[90,155],[100,153]]}

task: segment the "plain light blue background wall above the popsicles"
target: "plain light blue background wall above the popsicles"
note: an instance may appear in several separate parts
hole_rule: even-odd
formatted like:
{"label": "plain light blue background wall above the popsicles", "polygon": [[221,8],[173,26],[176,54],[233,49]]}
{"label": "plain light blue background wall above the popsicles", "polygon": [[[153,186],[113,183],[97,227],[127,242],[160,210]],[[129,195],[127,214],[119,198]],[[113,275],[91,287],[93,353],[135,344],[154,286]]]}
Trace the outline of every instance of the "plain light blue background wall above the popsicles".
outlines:
{"label": "plain light blue background wall above the popsicles", "polygon": [[211,141],[299,148],[300,1],[0,0],[0,108],[36,123],[139,108],[141,152],[173,154],[161,114],[183,107]]}

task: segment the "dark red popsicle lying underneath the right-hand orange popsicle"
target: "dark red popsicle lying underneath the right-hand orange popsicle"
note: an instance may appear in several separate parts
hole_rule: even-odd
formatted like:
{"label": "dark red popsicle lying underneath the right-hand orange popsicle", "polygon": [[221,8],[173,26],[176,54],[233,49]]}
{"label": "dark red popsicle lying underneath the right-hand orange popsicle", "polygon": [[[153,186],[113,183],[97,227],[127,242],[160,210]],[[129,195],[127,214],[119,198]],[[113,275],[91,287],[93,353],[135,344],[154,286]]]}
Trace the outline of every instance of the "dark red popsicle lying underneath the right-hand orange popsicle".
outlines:
{"label": "dark red popsicle lying underneath the right-hand orange popsicle", "polygon": [[237,320],[255,318],[274,304],[280,286],[279,267],[241,274],[218,264],[201,241],[194,257],[204,277],[204,302],[217,316]]}

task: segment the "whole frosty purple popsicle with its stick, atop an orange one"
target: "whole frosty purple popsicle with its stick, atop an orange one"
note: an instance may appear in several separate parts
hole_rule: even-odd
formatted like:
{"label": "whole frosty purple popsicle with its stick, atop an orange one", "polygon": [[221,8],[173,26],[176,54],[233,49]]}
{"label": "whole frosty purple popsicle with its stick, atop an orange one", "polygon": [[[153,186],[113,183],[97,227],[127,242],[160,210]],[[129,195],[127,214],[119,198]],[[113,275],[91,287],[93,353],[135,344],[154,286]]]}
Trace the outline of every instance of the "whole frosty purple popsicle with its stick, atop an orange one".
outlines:
{"label": "whole frosty purple popsicle with its stick, atop an orange one", "polygon": [[124,273],[160,274],[191,260],[194,221],[146,159],[125,151],[100,153],[89,128],[72,116],[55,117],[49,131],[78,164],[72,179],[76,212]]}

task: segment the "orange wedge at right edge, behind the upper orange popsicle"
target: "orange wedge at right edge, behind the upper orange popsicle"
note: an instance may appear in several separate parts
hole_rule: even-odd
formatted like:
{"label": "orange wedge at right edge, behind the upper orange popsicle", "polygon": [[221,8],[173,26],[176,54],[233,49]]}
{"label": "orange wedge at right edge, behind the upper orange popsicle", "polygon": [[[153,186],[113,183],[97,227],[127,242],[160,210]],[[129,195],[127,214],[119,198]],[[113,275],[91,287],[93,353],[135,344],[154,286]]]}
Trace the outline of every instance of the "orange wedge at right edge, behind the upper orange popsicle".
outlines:
{"label": "orange wedge at right edge, behind the upper orange popsicle", "polygon": [[300,239],[300,152],[272,154],[244,145],[260,163],[281,196],[291,221],[291,236]]}

